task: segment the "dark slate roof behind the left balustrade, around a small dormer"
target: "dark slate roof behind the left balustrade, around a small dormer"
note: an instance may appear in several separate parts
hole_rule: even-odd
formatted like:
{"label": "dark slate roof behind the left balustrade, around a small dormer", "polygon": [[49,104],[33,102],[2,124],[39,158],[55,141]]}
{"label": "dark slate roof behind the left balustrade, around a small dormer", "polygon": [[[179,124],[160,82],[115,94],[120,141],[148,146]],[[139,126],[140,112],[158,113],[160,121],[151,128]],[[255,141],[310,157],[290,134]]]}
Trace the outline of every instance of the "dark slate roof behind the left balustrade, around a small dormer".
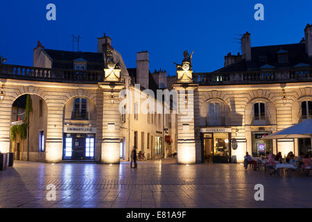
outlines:
{"label": "dark slate roof behind the left balustrade, around a small dormer", "polygon": [[90,53],[82,51],[62,51],[54,49],[44,49],[44,51],[53,60],[54,69],[73,69],[74,60],[86,60],[87,70],[103,70],[103,53]]}

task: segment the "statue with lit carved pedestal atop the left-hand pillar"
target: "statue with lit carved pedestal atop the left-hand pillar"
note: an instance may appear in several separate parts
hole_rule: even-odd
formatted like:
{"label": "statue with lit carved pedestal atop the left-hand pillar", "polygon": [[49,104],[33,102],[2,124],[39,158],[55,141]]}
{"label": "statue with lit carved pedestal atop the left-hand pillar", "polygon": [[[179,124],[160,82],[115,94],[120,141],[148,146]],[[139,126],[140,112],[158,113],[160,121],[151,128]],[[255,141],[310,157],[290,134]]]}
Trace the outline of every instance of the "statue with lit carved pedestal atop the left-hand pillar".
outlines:
{"label": "statue with lit carved pedestal atop the left-hand pillar", "polygon": [[119,82],[120,80],[120,62],[114,62],[112,50],[107,50],[105,52],[105,82]]}

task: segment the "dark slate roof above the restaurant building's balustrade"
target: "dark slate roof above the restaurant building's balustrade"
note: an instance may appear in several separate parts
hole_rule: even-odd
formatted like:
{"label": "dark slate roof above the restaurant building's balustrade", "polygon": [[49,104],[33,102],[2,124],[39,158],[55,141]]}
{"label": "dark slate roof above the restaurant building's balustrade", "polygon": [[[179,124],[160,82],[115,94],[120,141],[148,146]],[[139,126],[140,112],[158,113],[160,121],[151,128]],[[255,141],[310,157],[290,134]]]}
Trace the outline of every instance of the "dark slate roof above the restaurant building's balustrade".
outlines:
{"label": "dark slate roof above the restaurant building's balustrade", "polygon": [[[289,69],[299,64],[312,66],[312,59],[306,54],[304,42],[298,44],[281,44],[275,46],[252,47],[252,60],[241,60],[232,65],[217,69],[220,71],[253,71],[273,67],[271,69]],[[288,62],[279,62],[278,54],[287,53]],[[262,68],[261,68],[262,67]],[[275,67],[275,68],[274,68]]]}

